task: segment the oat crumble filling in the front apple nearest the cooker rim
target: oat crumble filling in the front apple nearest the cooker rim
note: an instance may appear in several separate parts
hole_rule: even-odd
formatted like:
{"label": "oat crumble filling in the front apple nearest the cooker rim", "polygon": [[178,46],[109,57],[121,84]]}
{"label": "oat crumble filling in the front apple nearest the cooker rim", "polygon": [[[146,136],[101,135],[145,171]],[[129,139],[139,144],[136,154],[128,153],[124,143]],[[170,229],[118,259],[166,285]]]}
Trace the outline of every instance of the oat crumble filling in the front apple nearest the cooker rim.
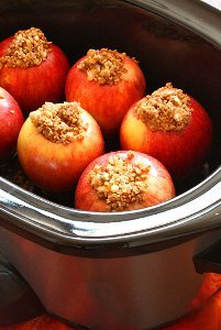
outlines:
{"label": "oat crumble filling in the front apple nearest the cooker rim", "polygon": [[133,157],[133,152],[126,157],[112,155],[107,165],[96,165],[88,174],[98,198],[107,202],[107,211],[123,211],[143,200],[151,166],[141,161],[132,164]]}

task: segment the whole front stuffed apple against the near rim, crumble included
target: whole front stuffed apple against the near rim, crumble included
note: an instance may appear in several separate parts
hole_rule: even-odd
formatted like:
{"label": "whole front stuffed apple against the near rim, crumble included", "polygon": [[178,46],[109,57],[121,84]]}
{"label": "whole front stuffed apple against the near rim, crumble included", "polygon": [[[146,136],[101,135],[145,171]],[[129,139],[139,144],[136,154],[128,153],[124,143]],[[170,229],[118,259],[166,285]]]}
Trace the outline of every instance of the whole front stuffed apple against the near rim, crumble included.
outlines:
{"label": "whole front stuffed apple against the near rim, crumble included", "polygon": [[151,207],[175,197],[167,169],[148,155],[118,151],[87,166],[77,185],[75,207],[96,212]]}

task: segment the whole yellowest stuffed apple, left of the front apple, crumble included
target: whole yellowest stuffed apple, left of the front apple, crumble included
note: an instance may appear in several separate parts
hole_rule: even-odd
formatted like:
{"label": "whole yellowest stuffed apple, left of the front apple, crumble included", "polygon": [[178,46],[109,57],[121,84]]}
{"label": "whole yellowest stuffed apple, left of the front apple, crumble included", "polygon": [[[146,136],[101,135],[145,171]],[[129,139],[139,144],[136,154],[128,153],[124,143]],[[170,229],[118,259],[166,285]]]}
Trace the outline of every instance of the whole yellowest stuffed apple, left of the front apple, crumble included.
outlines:
{"label": "whole yellowest stuffed apple, left of the front apple, crumble included", "polygon": [[46,102],[30,113],[18,139],[24,173],[49,193],[71,190],[103,147],[99,125],[77,102]]}

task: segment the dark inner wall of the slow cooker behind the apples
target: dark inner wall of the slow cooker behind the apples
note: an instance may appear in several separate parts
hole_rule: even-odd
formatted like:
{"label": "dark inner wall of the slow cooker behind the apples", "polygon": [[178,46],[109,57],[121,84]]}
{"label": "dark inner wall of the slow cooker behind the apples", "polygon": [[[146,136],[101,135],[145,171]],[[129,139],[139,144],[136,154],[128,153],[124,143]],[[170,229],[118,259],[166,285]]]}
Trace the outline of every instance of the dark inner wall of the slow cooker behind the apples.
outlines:
{"label": "dark inner wall of the slow cooker behind the apples", "polygon": [[[40,28],[64,50],[71,64],[89,48],[117,48],[140,62],[148,92],[172,81],[198,99],[214,123],[214,142],[207,164],[185,185],[179,184],[178,193],[195,186],[220,165],[221,52],[213,45],[123,1],[1,1],[0,16],[0,40],[20,29]],[[118,148],[118,141],[111,148]],[[1,169],[0,174],[7,176],[8,170]]]}

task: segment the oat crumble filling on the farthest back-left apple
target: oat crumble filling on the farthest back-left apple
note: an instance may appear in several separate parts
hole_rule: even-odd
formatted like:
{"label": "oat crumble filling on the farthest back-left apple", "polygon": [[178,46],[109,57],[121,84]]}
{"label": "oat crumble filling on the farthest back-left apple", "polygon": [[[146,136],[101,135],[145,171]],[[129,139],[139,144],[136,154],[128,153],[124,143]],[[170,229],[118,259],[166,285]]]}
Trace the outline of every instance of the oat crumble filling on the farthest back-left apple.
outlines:
{"label": "oat crumble filling on the farthest back-left apple", "polygon": [[7,67],[38,66],[47,58],[51,44],[40,29],[20,30],[14,34],[0,63]]}

